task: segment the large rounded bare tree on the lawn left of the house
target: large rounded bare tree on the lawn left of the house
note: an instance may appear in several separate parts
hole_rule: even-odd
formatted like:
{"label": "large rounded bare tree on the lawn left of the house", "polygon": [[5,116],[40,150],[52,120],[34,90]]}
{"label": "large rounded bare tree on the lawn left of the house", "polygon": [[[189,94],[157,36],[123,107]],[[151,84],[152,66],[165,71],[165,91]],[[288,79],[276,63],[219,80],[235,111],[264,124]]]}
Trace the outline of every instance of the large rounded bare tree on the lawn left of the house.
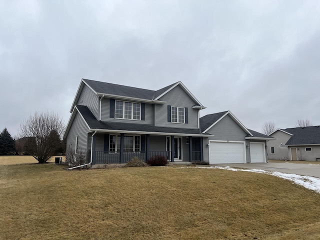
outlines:
{"label": "large rounded bare tree on the lawn left of the house", "polygon": [[[24,150],[39,163],[45,163],[60,146],[64,123],[53,112],[35,112],[19,127],[19,136],[28,137]],[[57,137],[58,136],[58,137]]]}

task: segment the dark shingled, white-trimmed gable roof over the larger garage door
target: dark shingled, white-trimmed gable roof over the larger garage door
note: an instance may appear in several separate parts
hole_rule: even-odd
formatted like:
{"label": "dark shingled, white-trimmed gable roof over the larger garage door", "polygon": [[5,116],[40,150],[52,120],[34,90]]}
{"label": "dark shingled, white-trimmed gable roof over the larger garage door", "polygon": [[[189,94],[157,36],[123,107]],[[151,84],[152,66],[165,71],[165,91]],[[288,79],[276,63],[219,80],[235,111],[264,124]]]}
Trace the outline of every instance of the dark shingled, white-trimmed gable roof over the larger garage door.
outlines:
{"label": "dark shingled, white-trimmed gable roof over the larger garage door", "polygon": [[230,111],[222,111],[202,116],[200,118],[200,128],[202,130],[202,133],[207,132],[212,126],[218,123],[226,115],[229,115],[247,134],[253,136],[251,132]]}

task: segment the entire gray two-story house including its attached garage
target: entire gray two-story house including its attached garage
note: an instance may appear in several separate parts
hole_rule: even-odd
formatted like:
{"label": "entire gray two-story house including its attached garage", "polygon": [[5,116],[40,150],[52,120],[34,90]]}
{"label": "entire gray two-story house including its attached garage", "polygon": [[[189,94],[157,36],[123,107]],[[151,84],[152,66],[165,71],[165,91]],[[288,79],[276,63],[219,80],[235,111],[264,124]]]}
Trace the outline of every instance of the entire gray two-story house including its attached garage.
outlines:
{"label": "entire gray two-story house including its attached garage", "polygon": [[[66,153],[81,153],[92,164],[154,155],[170,161],[265,161],[264,143],[272,137],[246,129],[229,111],[199,118],[203,108],[180,81],[148,90],[82,79],[63,136]],[[237,160],[237,144],[222,144],[229,149],[222,154],[231,158],[209,151],[218,142],[233,141],[243,148]]]}

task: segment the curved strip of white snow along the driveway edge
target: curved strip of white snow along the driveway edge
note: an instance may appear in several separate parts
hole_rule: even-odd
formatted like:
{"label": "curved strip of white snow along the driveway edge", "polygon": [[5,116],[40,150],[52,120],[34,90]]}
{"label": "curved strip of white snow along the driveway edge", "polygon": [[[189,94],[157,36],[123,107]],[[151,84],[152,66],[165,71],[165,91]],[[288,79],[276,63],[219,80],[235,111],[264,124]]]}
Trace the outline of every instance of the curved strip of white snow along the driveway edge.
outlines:
{"label": "curved strip of white snow along the driveway edge", "polygon": [[302,175],[298,175],[298,174],[284,173],[284,172],[279,172],[279,171],[265,171],[265,170],[261,170],[261,169],[240,169],[240,168],[232,168],[229,166],[197,166],[197,168],[218,168],[218,169],[224,169],[224,170],[230,170],[230,171],[250,171],[250,172],[256,172],[256,173],[269,174],[272,176],[277,176],[277,177],[280,177],[283,179],[293,181],[292,183],[301,185],[305,188],[308,188],[313,191],[316,191],[317,193],[320,193],[320,178],[319,177],[302,176]]}

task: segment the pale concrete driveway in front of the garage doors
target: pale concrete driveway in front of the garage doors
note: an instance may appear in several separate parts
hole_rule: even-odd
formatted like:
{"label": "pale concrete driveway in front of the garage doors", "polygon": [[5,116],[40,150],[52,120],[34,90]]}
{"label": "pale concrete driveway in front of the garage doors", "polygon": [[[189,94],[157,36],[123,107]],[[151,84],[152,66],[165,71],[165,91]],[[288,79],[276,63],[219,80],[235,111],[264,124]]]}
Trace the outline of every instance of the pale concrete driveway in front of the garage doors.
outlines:
{"label": "pale concrete driveway in front of the garage doors", "polygon": [[248,169],[262,169],[266,171],[279,171],[279,172],[285,172],[285,173],[295,173],[299,175],[320,177],[320,164],[268,162],[268,163],[232,163],[232,164],[213,164],[213,165],[248,168]]}

